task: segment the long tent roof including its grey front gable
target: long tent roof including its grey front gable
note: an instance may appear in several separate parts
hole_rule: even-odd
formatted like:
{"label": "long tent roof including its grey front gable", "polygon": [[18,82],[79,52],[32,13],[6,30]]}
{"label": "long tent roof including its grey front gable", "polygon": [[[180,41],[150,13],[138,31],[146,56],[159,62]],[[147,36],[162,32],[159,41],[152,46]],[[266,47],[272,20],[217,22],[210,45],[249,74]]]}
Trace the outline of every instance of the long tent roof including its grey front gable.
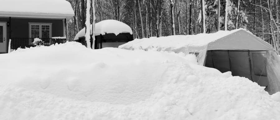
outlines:
{"label": "long tent roof including its grey front gable", "polygon": [[[216,33],[210,34],[197,34],[197,35],[175,35],[175,36],[166,36],[166,37],[152,37],[152,38],[143,38],[143,39],[135,39],[130,41],[124,45],[119,46],[119,48],[123,49],[159,49],[165,51],[175,51],[175,52],[183,52],[184,50],[191,48],[191,49],[205,49],[208,45],[212,45],[212,48],[217,48],[221,50],[221,48],[228,50],[228,49],[237,49],[240,46],[240,43],[237,42],[237,39],[234,39],[236,36],[240,36],[242,33],[243,36],[247,36],[246,39],[238,40],[243,41],[244,44],[246,42],[257,41],[254,45],[260,43],[260,46],[265,46],[265,50],[273,50],[271,45],[267,42],[261,40],[257,36],[254,36],[250,31],[246,29],[236,29],[232,31],[218,31]],[[249,36],[249,37],[248,37]],[[231,37],[229,39],[229,37]],[[240,37],[238,37],[240,38]],[[250,40],[249,40],[250,39]],[[251,40],[253,39],[253,40]],[[223,44],[219,44],[220,40],[224,40]],[[227,40],[231,40],[228,42]],[[209,44],[211,43],[211,44]],[[212,44],[217,43],[217,44]],[[236,45],[234,45],[235,43]],[[227,46],[224,46],[227,44]],[[224,46],[224,47],[222,47]],[[253,46],[252,44],[247,44],[244,46],[247,48],[248,46]],[[239,47],[238,49],[240,49]]]}

